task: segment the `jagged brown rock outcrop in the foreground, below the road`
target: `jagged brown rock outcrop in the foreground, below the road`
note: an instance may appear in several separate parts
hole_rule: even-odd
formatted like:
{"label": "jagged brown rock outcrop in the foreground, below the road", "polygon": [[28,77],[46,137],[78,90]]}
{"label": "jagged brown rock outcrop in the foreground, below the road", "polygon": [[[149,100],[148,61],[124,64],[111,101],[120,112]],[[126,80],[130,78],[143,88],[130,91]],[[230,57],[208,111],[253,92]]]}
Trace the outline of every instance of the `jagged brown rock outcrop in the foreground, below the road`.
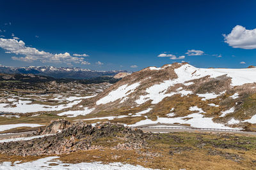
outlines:
{"label": "jagged brown rock outcrop in the foreground, below the road", "polygon": [[[57,132],[57,133],[56,133]],[[9,155],[52,155],[93,150],[111,146],[117,150],[131,150],[145,147],[145,138],[141,130],[132,130],[122,124],[104,122],[96,127],[84,122],[71,124],[67,120],[51,122],[33,136],[56,133],[43,138],[28,141],[0,143],[0,153]]]}

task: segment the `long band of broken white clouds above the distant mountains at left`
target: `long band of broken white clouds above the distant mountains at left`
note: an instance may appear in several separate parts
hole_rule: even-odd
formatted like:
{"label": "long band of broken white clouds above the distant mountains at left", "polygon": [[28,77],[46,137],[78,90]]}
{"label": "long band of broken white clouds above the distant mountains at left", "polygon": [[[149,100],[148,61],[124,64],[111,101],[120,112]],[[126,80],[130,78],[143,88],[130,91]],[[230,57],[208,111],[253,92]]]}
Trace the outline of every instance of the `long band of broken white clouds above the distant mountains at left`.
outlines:
{"label": "long band of broken white clouds above the distant mountains at left", "polygon": [[85,63],[83,57],[74,57],[71,56],[68,52],[54,54],[50,52],[39,51],[36,48],[26,46],[24,41],[18,41],[17,39],[0,38],[0,48],[3,48],[8,53],[24,55],[24,57],[12,57],[13,60],[20,60],[24,62],[40,61],[65,64],[82,64],[82,62]]}

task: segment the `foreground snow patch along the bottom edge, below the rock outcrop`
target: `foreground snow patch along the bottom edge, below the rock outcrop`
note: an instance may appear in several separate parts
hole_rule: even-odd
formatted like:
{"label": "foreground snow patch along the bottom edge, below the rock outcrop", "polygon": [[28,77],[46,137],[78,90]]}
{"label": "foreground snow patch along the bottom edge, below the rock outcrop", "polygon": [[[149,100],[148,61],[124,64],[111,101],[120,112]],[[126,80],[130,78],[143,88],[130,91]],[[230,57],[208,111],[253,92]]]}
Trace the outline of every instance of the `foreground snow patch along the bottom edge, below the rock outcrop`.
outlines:
{"label": "foreground snow patch along the bottom edge, below the rock outcrop", "polygon": [[[122,164],[120,162],[114,162],[109,164],[102,164],[101,162],[82,162],[78,164],[66,164],[58,160],[59,157],[46,157],[43,159],[34,160],[31,162],[24,162],[20,164],[20,161],[12,162],[3,162],[0,164],[0,169],[26,169],[26,170],[39,170],[39,169],[83,169],[83,170],[122,170],[122,169],[131,169],[131,170],[149,170],[143,166],[134,166],[131,164]],[[51,163],[57,165],[51,166]]]}

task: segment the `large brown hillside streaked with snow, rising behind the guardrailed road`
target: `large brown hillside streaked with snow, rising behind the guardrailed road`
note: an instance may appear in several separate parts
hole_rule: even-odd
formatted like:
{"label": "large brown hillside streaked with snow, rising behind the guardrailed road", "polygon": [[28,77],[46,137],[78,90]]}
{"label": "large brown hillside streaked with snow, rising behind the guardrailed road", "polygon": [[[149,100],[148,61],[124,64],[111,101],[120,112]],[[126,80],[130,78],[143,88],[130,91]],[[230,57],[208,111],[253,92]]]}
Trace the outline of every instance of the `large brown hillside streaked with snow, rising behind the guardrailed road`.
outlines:
{"label": "large brown hillside streaked with snow, rising behind the guardrailed road", "polygon": [[[130,118],[134,125],[160,122],[244,128],[256,124],[255,82],[255,68],[205,69],[188,63],[167,64],[125,76],[90,99],[86,107],[93,115],[114,116],[116,122],[126,124],[131,124]],[[143,110],[148,112],[138,114]]]}

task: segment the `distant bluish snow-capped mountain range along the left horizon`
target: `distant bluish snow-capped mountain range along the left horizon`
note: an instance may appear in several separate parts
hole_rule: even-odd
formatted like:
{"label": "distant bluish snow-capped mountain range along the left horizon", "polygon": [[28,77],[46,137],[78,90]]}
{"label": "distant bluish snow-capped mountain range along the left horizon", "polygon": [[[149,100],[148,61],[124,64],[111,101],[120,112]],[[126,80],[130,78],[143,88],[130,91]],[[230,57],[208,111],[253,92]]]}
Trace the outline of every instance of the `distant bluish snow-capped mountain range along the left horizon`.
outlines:
{"label": "distant bluish snow-capped mountain range along the left horizon", "polygon": [[53,66],[29,66],[29,67],[10,67],[0,65],[0,73],[4,74],[38,74],[52,76],[54,78],[76,78],[86,79],[100,76],[115,76],[115,74],[127,72],[118,71],[95,71],[79,67],[53,67]]}

